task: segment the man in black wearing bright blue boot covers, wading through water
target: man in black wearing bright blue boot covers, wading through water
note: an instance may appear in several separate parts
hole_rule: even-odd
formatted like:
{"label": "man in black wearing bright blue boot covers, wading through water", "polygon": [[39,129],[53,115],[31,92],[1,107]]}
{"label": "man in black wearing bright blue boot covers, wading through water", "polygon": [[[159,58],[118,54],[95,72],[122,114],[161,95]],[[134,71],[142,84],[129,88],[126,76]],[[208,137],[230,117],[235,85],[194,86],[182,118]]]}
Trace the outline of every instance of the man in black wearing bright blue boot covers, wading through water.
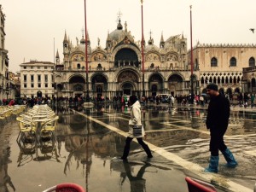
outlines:
{"label": "man in black wearing bright blue boot covers, wading through water", "polygon": [[224,155],[227,161],[226,166],[235,168],[237,162],[230,152],[230,149],[224,143],[224,133],[229,125],[230,102],[227,98],[218,93],[217,84],[207,85],[207,94],[210,96],[210,102],[207,112],[207,129],[210,130],[210,164],[205,172],[218,172],[218,150]]}

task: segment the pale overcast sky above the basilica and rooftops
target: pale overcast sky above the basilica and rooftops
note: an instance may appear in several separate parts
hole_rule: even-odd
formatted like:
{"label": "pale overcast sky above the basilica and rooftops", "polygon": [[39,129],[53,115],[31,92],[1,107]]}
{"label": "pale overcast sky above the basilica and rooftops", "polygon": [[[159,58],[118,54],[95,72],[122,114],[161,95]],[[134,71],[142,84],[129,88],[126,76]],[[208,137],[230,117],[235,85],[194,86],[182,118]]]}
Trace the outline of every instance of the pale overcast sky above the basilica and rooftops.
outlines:
{"label": "pale overcast sky above the basilica and rooftops", "polygon": [[[5,20],[5,49],[9,51],[9,71],[20,71],[23,61],[54,62],[56,49],[61,61],[65,30],[76,44],[84,29],[84,0],[0,0]],[[87,29],[91,48],[97,38],[105,48],[109,32],[127,22],[128,31],[141,40],[140,0],[86,0]],[[184,34],[190,47],[190,9],[192,5],[193,45],[201,44],[256,44],[256,0],[144,0],[144,37],[148,42],[152,32],[154,44]],[[256,33],[256,31],[255,31]],[[55,51],[54,51],[55,50]]]}

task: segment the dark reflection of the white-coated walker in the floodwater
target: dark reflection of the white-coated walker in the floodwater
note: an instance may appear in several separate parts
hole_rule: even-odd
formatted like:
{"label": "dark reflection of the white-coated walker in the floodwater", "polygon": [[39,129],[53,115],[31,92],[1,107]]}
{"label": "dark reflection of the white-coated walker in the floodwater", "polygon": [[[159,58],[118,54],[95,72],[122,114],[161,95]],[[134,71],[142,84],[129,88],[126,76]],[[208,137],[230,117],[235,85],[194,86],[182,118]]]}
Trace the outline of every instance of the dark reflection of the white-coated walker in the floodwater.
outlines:
{"label": "dark reflection of the white-coated walker in the floodwater", "polygon": [[131,174],[131,166],[130,163],[127,161],[123,161],[124,167],[125,167],[125,175],[121,173],[121,176],[123,177],[123,181],[125,181],[125,177],[127,176],[129,178],[130,184],[131,184],[131,192],[143,192],[145,191],[145,184],[146,180],[143,178],[143,174],[148,166],[150,164],[145,164],[140,168],[140,170],[137,172],[136,176],[133,176]]}

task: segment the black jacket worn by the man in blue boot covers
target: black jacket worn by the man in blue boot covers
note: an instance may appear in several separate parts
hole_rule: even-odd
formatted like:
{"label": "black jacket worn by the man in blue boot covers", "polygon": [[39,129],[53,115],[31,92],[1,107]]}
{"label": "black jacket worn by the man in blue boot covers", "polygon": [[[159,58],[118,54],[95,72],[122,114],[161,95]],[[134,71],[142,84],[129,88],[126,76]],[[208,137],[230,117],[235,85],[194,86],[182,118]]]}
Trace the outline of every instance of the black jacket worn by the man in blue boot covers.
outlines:
{"label": "black jacket worn by the man in blue boot covers", "polygon": [[212,97],[207,112],[207,129],[225,131],[229,125],[230,102],[219,94]]}

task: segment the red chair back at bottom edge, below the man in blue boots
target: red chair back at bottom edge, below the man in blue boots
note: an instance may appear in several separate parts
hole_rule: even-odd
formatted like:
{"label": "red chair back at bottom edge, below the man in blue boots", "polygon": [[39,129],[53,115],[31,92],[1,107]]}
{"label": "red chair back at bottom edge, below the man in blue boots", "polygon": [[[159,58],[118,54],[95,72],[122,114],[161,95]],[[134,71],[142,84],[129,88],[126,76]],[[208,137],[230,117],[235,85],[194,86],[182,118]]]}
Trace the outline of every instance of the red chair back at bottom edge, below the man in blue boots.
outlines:
{"label": "red chair back at bottom edge, below the man in blue boots", "polygon": [[192,177],[185,177],[189,192],[217,192],[217,189],[210,184]]}

